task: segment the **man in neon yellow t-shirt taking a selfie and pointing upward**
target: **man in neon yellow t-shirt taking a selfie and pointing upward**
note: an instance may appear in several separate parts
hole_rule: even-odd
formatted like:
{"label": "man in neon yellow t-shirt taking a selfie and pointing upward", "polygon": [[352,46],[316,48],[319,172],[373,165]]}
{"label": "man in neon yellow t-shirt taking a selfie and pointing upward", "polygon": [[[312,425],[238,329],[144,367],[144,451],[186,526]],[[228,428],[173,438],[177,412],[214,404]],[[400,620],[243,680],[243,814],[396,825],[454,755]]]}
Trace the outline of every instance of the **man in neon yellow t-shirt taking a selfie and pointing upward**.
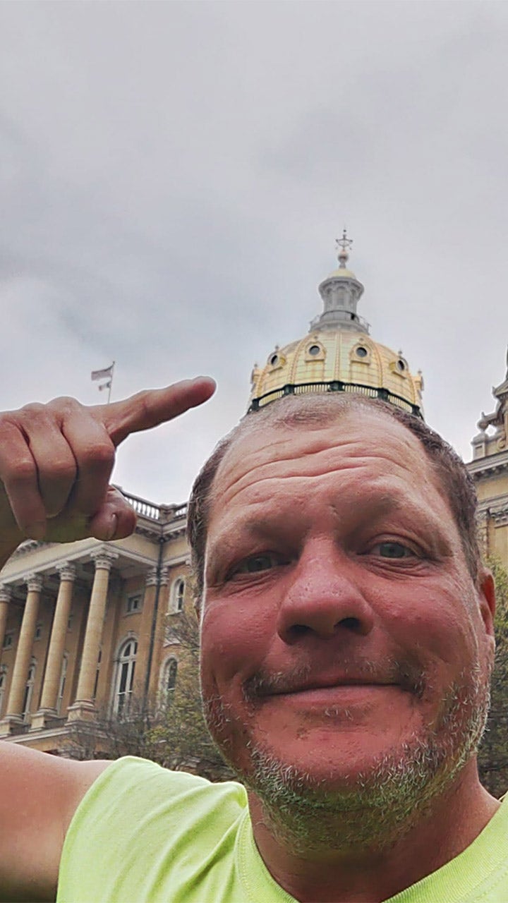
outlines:
{"label": "man in neon yellow t-shirt taking a selfie and pointing upward", "polygon": [[[116,445],[212,391],[0,418],[4,561],[26,536],[131,532]],[[455,453],[390,405],[249,415],[190,504],[205,712],[247,789],[1,744],[3,898],[506,903],[508,804],[475,759],[494,588],[474,508]]]}

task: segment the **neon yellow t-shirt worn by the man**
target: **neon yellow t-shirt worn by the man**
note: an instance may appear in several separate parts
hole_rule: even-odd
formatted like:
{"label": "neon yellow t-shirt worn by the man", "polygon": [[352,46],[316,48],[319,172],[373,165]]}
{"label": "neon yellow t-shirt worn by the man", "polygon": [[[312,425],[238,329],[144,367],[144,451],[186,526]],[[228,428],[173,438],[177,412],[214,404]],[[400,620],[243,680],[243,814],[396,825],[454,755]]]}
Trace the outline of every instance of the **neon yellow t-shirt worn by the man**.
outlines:
{"label": "neon yellow t-shirt worn by the man", "polygon": [[[508,799],[456,859],[386,903],[507,903]],[[295,903],[252,835],[244,787],[118,759],[65,838],[57,903]]]}

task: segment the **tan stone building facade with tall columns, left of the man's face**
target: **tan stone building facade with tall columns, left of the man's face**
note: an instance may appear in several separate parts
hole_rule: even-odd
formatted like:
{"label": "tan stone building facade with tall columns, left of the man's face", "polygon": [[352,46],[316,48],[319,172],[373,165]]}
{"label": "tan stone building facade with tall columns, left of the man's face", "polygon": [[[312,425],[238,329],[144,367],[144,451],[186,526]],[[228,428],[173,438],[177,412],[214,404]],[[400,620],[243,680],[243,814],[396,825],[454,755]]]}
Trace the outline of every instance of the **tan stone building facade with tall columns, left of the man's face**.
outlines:
{"label": "tan stone building facade with tall columns, left of the man's face", "polygon": [[192,606],[186,507],[126,496],[134,535],[24,543],[0,582],[0,738],[61,752],[71,724],[174,680],[171,619]]}

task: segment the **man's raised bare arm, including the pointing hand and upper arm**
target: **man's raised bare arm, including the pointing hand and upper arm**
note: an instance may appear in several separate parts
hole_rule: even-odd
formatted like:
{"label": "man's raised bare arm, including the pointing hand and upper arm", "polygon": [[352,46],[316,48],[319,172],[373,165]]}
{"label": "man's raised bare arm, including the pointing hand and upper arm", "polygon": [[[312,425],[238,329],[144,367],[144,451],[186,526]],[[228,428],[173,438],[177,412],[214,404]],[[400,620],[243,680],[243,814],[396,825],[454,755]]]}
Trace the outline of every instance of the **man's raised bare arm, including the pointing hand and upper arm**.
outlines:
{"label": "man's raised bare arm, including the pointing hand and upper arm", "polygon": [[[201,405],[213,388],[200,377],[112,405],[60,398],[0,414],[0,566],[27,538],[130,535],[134,511],[109,486],[118,444]],[[0,900],[54,900],[72,815],[107,765],[0,742]]]}

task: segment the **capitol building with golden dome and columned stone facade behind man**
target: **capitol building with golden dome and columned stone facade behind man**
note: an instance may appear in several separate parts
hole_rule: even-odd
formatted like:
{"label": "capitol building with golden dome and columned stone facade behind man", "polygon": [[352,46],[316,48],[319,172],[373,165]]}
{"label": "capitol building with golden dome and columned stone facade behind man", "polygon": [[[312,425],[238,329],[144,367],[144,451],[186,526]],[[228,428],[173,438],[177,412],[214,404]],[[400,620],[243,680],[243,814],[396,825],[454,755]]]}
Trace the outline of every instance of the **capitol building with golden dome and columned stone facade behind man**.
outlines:
{"label": "capitol building with golden dome and columned stone facade behind man", "polygon": [[[323,310],[302,338],[270,350],[251,376],[249,410],[302,392],[360,392],[423,417],[423,377],[372,339],[351,240],[318,286]],[[396,340],[396,337],[394,337]],[[507,361],[508,365],[508,361]],[[499,362],[493,361],[493,377]],[[482,414],[468,470],[485,554],[508,568],[508,370]],[[232,424],[231,424],[232,425]],[[473,429],[472,429],[473,432]],[[136,532],[116,542],[24,542],[0,575],[0,739],[61,753],[72,728],[178,680],[178,618],[193,605],[185,505],[129,496]]]}

